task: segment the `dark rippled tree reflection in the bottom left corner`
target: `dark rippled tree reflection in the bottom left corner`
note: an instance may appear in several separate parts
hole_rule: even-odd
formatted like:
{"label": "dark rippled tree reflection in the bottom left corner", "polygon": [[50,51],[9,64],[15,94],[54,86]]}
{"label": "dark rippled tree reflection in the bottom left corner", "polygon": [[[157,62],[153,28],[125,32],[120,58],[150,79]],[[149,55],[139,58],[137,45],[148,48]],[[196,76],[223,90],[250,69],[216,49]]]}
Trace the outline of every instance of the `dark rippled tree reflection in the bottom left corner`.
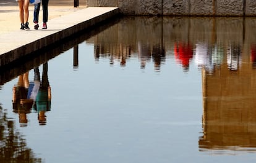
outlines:
{"label": "dark rippled tree reflection in the bottom left corner", "polygon": [[15,129],[14,121],[8,119],[0,106],[0,162],[42,162],[27,147],[25,138]]}

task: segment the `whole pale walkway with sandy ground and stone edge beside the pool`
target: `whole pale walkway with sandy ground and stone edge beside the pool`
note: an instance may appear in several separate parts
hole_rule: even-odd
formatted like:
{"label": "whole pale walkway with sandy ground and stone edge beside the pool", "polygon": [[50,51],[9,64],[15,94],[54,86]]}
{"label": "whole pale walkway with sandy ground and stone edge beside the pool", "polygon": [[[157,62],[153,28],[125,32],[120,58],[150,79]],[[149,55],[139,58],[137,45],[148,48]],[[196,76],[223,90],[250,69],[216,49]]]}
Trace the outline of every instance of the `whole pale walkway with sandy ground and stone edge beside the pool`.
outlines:
{"label": "whole pale walkway with sandy ground and stone edge beside the pool", "polygon": [[[87,8],[80,4],[79,7],[74,7],[74,4],[69,0],[64,0],[69,5],[54,6],[56,1],[51,0],[50,2],[52,3],[49,4],[47,30],[41,30],[41,24],[38,30],[33,29],[33,6],[30,5],[29,31],[19,30],[18,6],[2,6],[0,4],[0,66],[11,63],[49,44],[53,44],[54,41],[64,39],[82,28],[101,22],[105,18],[112,17],[117,13],[116,7]],[[113,14],[111,15],[111,13]]]}

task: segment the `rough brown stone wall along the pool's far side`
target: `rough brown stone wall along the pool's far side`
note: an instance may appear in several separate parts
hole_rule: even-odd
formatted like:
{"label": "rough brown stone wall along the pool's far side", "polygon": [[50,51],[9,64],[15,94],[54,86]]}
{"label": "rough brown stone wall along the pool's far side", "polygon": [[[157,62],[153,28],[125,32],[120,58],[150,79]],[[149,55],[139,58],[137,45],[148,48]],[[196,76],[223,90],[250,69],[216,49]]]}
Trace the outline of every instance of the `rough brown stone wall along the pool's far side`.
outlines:
{"label": "rough brown stone wall along the pool's far side", "polygon": [[88,7],[119,7],[125,15],[255,16],[255,0],[85,0]]}

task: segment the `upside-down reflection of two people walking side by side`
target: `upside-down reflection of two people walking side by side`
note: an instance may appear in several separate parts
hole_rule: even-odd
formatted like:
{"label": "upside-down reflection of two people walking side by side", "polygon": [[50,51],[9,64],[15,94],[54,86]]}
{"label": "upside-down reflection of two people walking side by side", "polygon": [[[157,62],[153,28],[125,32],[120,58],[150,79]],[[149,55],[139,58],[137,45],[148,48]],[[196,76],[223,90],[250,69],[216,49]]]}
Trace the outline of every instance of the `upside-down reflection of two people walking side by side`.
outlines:
{"label": "upside-down reflection of two people walking side by side", "polygon": [[28,81],[28,72],[21,74],[17,85],[14,86],[12,106],[19,114],[20,124],[27,125],[27,113],[31,110],[38,112],[40,125],[46,124],[45,112],[51,109],[51,87],[48,81],[48,63],[43,63],[43,74],[40,80],[39,68],[34,68],[34,80]]}

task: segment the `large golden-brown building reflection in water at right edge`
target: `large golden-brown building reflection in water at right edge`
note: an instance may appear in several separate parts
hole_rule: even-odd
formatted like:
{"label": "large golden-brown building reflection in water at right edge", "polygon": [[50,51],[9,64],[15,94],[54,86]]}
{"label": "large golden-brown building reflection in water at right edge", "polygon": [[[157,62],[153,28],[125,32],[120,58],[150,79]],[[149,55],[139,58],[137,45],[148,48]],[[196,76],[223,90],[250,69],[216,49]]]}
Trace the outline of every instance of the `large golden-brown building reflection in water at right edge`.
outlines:
{"label": "large golden-brown building reflection in water at right edge", "polygon": [[[220,50],[213,73],[202,68],[203,135],[200,151],[256,151],[256,71],[239,44]],[[224,55],[223,55],[224,54]]]}

